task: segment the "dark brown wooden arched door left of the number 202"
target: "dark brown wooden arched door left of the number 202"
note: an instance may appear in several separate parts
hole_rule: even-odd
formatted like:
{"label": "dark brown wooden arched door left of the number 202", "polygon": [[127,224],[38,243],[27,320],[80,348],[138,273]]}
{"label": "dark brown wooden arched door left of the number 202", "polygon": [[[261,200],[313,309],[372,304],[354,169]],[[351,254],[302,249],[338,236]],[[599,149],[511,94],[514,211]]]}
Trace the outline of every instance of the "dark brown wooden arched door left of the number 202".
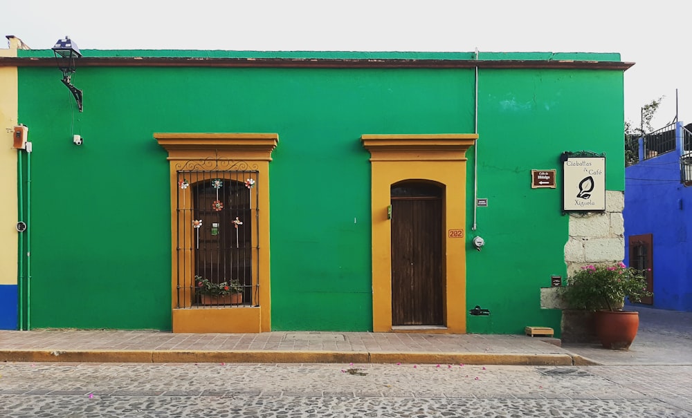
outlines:
{"label": "dark brown wooden arched door left of the number 202", "polygon": [[392,325],[443,325],[441,189],[397,188],[392,187]]}

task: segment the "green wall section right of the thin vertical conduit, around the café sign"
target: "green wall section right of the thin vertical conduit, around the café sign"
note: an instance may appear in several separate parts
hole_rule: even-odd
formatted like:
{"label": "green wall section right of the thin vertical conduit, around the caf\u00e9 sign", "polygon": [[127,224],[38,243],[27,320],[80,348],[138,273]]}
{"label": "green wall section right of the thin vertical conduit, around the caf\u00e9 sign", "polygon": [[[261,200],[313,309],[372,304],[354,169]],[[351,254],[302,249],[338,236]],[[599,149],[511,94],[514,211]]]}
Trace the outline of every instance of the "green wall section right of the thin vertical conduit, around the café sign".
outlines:
{"label": "green wall section right of the thin vertical conduit, around the caf\u00e9 sign", "polygon": [[[561,212],[559,156],[607,155],[609,190],[623,190],[622,74],[583,70],[480,70],[477,208],[482,251],[467,253],[468,332],[521,333],[527,325],[559,330],[560,312],[540,310],[540,287],[565,277],[568,216]],[[531,189],[531,169],[557,169],[556,189]],[[469,178],[468,190],[473,190]],[[472,200],[468,213],[473,214]]]}

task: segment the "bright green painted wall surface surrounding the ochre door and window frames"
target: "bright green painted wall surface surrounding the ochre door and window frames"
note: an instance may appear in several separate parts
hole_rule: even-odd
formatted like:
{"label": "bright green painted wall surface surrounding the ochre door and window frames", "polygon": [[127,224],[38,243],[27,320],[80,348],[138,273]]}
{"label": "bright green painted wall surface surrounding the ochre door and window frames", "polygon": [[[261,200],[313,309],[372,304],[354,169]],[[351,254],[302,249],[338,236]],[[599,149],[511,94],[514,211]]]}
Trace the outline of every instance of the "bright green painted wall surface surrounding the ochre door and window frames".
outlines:
{"label": "bright green painted wall surface surrounding the ochre door and window frames", "polygon": [[[34,144],[32,327],[169,330],[170,186],[152,134],[275,132],[272,327],[371,330],[370,155],[359,137],[474,129],[470,69],[82,68],[73,83],[84,113],[56,69],[19,70],[19,121]],[[608,188],[622,189],[622,97],[617,71],[480,71],[487,244],[468,247],[467,303],[492,315],[469,317],[469,332],[558,327],[538,288],[565,273],[567,218],[559,189],[531,190],[529,173],[557,169],[563,151],[605,151]]]}

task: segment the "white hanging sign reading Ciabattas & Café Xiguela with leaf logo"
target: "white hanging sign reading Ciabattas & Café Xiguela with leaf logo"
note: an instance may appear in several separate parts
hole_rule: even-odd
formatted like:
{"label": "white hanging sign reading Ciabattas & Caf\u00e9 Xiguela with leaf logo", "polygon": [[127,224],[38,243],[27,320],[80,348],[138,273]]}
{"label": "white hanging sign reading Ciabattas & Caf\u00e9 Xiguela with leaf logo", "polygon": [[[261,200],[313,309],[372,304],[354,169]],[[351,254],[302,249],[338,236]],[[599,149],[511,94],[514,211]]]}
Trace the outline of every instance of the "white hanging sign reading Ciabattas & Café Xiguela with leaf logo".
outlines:
{"label": "white hanging sign reading Ciabattas & Caf\u00e9 Xiguela with leaf logo", "polygon": [[605,211],[605,157],[563,154],[563,210]]}

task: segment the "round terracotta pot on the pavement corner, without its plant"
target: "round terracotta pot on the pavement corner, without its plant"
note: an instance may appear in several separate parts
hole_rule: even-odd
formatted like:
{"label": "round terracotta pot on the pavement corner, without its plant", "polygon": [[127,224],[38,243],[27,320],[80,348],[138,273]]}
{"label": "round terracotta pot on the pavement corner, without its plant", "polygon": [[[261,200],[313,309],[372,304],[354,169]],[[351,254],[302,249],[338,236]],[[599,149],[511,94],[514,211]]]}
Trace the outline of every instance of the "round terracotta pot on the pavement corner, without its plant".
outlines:
{"label": "round terracotta pot on the pavement corner, without its plant", "polygon": [[595,322],[603,348],[628,350],[637,336],[639,312],[601,310],[596,312]]}

